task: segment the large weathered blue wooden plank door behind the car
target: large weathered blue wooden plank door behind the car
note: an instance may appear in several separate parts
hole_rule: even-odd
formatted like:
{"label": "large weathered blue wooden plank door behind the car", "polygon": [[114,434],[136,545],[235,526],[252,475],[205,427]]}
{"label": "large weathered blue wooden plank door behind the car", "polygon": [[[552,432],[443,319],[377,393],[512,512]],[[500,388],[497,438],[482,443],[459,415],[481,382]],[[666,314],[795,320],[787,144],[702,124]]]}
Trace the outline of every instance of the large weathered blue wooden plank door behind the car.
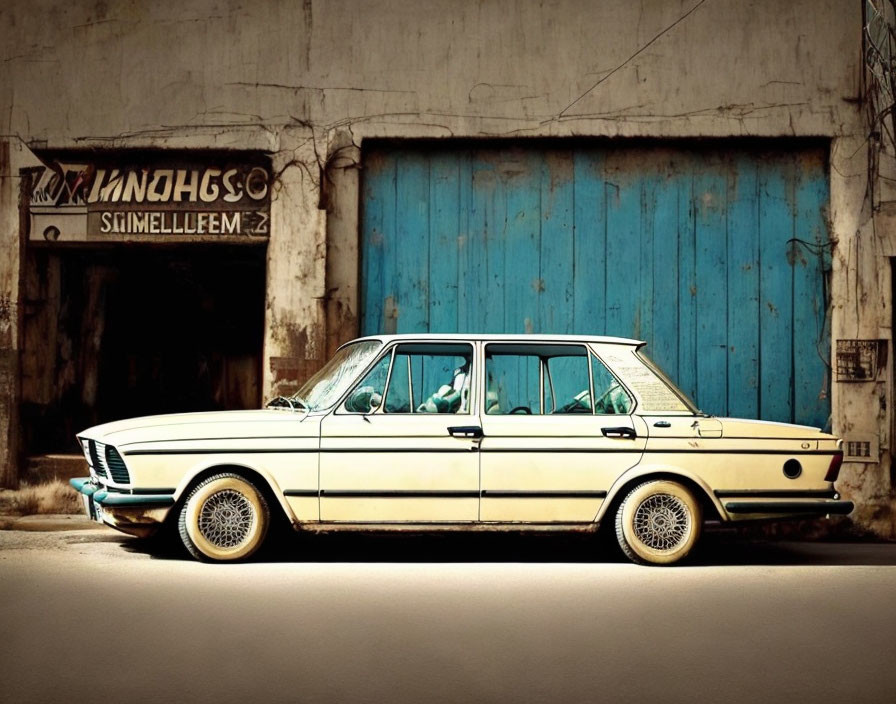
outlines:
{"label": "large weathered blue wooden plank door behind the car", "polygon": [[644,339],[717,415],[830,412],[823,145],[365,151],[361,329]]}

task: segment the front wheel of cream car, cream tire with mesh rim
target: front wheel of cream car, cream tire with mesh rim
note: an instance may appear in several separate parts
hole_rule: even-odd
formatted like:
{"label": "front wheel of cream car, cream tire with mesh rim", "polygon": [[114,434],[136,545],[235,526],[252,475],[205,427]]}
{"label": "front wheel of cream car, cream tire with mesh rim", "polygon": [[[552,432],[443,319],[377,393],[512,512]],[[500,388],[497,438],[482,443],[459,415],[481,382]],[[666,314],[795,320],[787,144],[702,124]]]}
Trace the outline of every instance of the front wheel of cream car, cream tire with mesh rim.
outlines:
{"label": "front wheel of cream car, cream tire with mesh rim", "polygon": [[252,556],[264,542],[271,512],[262,493],[238,474],[199,483],[180,510],[178,532],[187,551],[203,562]]}

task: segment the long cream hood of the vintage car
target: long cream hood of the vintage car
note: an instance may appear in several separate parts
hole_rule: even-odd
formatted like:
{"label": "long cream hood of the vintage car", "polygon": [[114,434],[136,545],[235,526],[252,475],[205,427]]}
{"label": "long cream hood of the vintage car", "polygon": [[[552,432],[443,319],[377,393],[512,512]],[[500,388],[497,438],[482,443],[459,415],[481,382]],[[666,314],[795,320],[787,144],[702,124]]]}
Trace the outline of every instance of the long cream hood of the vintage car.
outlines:
{"label": "long cream hood of the vintage car", "polygon": [[219,438],[303,437],[317,433],[314,424],[302,423],[303,411],[253,410],[173,413],[119,420],[78,433],[78,437],[110,445],[159,440]]}

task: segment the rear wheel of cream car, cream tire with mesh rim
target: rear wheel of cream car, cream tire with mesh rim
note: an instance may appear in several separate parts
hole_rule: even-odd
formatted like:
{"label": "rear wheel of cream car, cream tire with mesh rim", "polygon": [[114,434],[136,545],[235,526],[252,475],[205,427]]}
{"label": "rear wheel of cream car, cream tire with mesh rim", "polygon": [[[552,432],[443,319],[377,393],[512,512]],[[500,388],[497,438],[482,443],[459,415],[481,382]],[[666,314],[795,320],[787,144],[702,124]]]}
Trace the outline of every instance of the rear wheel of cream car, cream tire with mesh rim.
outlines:
{"label": "rear wheel of cream car, cream tire with mesh rim", "polygon": [[616,512],[616,540],[633,562],[671,565],[697,543],[703,511],[693,493],[665,479],[632,489]]}

